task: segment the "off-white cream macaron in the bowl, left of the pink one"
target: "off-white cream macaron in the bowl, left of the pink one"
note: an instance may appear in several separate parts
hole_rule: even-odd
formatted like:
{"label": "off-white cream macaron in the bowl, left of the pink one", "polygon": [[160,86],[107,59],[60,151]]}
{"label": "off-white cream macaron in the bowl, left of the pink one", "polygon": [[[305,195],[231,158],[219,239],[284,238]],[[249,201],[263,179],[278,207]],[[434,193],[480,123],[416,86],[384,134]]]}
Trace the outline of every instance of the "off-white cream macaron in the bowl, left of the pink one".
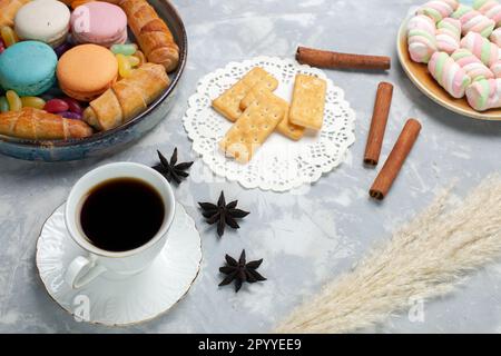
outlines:
{"label": "off-white cream macaron in the bowl, left of the pink one", "polygon": [[16,14],[16,33],[22,40],[37,40],[51,47],[66,41],[70,11],[56,0],[30,1]]}

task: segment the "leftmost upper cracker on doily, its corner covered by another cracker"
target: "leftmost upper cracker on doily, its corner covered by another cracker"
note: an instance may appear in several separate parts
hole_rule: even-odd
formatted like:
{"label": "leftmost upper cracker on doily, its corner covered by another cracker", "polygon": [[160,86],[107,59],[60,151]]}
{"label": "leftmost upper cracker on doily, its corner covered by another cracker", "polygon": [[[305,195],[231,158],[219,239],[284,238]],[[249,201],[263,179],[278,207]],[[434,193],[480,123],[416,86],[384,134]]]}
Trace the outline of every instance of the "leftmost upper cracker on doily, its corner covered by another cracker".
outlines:
{"label": "leftmost upper cracker on doily, its corner covered by another cracker", "polygon": [[232,88],[213,101],[213,108],[230,121],[236,121],[242,115],[240,101],[255,86],[275,90],[278,81],[263,68],[253,68]]}

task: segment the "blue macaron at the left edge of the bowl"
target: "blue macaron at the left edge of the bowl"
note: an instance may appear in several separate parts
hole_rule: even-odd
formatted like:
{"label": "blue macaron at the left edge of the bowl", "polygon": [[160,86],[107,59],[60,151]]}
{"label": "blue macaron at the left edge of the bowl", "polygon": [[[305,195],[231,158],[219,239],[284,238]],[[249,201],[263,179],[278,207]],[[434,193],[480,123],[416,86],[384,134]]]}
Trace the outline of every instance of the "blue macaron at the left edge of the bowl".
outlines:
{"label": "blue macaron at the left edge of the bowl", "polygon": [[56,81],[58,57],[39,41],[18,42],[0,55],[0,86],[18,96],[38,96]]}

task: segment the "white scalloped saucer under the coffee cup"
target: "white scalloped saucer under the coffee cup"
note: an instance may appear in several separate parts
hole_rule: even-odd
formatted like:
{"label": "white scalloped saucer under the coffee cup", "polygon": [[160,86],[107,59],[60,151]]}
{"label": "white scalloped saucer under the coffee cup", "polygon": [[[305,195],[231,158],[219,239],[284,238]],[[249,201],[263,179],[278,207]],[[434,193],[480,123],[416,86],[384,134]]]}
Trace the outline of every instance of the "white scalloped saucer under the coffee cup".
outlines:
{"label": "white scalloped saucer under the coffee cup", "polygon": [[63,280],[66,267],[85,251],[65,225],[65,205],[46,221],[37,244],[37,267],[49,295],[78,320],[124,326],[150,320],[173,307],[191,287],[200,269],[200,236],[181,205],[167,244],[153,265],[126,280],[98,277],[73,290]]}

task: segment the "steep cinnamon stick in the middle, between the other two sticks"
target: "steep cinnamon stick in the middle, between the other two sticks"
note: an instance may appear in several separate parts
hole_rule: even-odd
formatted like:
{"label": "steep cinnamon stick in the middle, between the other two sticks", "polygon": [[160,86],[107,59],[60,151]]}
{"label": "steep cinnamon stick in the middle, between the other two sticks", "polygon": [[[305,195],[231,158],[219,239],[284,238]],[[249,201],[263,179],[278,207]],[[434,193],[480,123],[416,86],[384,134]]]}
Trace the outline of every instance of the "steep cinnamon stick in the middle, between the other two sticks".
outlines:
{"label": "steep cinnamon stick in the middle, between the other two sticks", "polygon": [[380,160],[392,98],[393,86],[389,82],[381,82],[377,87],[371,130],[369,131],[367,145],[365,147],[364,164],[366,165],[377,166]]}

